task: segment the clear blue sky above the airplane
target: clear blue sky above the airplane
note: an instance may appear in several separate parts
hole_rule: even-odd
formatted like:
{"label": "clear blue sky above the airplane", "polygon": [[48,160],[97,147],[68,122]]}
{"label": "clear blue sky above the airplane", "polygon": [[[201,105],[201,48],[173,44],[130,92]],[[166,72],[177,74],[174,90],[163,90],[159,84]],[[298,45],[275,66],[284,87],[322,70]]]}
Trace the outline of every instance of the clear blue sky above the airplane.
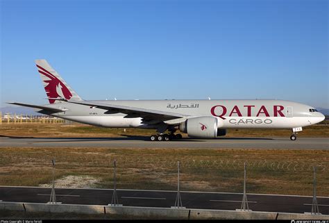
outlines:
{"label": "clear blue sky above the airplane", "polygon": [[329,108],[328,1],[1,0],[1,106],[47,104],[45,58],[84,99],[286,99]]}

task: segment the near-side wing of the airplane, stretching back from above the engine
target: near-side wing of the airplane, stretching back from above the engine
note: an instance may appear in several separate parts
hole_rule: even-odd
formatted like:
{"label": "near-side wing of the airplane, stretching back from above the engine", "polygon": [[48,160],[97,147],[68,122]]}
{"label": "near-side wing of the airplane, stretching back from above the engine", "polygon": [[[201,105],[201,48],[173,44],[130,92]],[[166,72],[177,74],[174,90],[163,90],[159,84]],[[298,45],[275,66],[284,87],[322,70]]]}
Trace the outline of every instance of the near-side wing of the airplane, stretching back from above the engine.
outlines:
{"label": "near-side wing of the airplane, stretching back from above the engine", "polygon": [[164,122],[171,119],[179,119],[187,117],[189,115],[184,115],[180,113],[169,113],[162,110],[151,110],[146,108],[135,108],[130,106],[120,106],[114,104],[106,104],[98,101],[67,101],[73,104],[81,104],[90,107],[101,108],[107,110],[106,114],[124,113],[127,114],[126,118],[132,117],[142,117],[143,123],[145,124],[158,124],[159,122]]}

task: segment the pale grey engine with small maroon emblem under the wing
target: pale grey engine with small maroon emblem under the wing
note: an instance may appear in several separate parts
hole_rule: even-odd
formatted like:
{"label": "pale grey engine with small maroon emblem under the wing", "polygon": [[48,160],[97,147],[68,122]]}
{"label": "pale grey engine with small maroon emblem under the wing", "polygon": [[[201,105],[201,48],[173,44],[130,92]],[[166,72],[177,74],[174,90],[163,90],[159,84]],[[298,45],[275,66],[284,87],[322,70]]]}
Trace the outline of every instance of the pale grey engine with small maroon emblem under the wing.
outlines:
{"label": "pale grey engine with small maroon emblem under the wing", "polygon": [[180,123],[179,129],[190,137],[216,138],[218,121],[216,117],[192,117]]}

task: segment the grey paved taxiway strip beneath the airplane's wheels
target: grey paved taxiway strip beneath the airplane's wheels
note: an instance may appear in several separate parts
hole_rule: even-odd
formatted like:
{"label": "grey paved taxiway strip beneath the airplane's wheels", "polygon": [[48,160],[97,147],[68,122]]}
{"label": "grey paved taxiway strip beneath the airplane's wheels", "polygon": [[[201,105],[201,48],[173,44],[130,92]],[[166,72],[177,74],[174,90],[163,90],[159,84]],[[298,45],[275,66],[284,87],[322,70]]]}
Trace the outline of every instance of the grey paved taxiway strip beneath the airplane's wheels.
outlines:
{"label": "grey paved taxiway strip beneath the airplane's wheels", "polygon": [[183,138],[151,142],[148,137],[118,138],[9,138],[0,137],[0,147],[107,147],[107,148],[189,148],[189,149],[321,149],[329,150],[329,138]]}

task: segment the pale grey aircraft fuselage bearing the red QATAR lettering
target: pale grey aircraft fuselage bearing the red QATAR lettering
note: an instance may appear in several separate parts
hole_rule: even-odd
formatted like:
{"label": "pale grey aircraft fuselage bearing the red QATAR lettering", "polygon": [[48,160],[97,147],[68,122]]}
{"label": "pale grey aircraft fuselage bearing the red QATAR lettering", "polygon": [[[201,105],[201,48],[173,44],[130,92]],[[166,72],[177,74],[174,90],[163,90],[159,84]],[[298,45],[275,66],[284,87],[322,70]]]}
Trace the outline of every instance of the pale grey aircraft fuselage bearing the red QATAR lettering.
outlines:
{"label": "pale grey aircraft fuselage bearing the red QATAR lettering", "polygon": [[[175,112],[188,117],[211,116],[221,120],[221,129],[292,129],[317,124],[324,115],[312,106],[282,100],[127,100],[97,101],[103,104],[133,106]],[[157,129],[157,125],[144,124],[141,117],[125,117],[124,113],[79,104],[61,102],[45,105],[65,109],[52,114],[56,117],[95,126],[115,128]],[[40,111],[42,113],[42,110]]]}

